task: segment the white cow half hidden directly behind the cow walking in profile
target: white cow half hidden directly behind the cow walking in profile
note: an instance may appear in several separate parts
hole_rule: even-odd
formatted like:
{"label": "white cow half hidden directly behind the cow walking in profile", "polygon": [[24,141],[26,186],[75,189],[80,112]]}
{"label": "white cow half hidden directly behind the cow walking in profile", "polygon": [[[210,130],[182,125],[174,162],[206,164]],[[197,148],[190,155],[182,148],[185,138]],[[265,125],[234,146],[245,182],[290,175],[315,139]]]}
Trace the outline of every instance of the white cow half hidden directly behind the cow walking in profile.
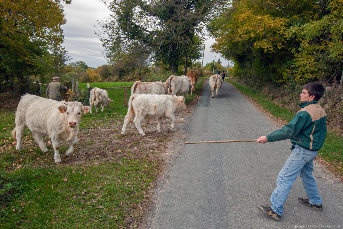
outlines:
{"label": "white cow half hidden directly behind the cow walking in profile", "polygon": [[131,87],[131,94],[157,94],[164,95],[168,92],[168,83],[161,81],[156,82],[141,82],[136,81]]}

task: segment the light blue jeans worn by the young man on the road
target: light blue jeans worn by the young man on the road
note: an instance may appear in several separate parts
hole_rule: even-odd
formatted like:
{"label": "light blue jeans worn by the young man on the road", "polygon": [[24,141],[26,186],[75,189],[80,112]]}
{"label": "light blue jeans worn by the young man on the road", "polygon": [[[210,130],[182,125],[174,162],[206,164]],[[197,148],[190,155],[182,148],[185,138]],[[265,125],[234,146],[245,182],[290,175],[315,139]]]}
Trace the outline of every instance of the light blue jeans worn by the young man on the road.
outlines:
{"label": "light blue jeans worn by the young man on the road", "polygon": [[322,204],[323,200],[319,197],[317,184],[312,175],[313,160],[317,155],[318,151],[306,150],[298,145],[294,145],[291,156],[289,156],[277,176],[276,188],[270,197],[272,202],[271,208],[276,214],[280,216],[283,214],[283,205],[286,202],[292,184],[299,174],[310,204]]}

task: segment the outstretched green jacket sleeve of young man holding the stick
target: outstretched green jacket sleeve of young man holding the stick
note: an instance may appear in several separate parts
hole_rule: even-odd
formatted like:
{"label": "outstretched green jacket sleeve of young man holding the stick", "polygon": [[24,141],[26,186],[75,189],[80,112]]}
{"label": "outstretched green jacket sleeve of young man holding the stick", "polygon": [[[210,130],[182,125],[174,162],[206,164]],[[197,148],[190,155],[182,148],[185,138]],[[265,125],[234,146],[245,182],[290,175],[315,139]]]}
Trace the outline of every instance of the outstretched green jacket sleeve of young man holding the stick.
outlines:
{"label": "outstretched green jacket sleeve of young man holding the stick", "polygon": [[312,118],[310,114],[306,111],[300,111],[287,125],[284,125],[281,129],[275,130],[270,135],[267,135],[267,140],[272,142],[293,138],[311,122]]}

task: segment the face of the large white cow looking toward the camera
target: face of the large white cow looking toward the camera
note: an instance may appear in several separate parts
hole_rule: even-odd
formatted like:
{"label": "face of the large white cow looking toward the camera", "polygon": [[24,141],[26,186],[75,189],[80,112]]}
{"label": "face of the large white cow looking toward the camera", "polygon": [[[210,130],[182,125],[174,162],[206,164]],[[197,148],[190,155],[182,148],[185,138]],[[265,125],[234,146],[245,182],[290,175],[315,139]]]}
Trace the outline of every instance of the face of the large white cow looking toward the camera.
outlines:
{"label": "face of the large white cow looking toward the camera", "polygon": [[64,114],[69,127],[78,127],[81,121],[81,113],[86,114],[91,110],[89,106],[83,106],[80,102],[69,102],[58,107],[59,111]]}

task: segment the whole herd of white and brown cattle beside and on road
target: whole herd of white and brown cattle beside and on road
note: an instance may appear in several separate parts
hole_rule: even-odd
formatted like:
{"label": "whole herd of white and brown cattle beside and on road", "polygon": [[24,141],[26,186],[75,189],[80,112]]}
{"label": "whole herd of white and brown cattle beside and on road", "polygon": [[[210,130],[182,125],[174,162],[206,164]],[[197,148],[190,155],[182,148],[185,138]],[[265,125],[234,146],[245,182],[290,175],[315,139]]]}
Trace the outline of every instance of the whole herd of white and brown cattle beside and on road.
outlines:
{"label": "whole herd of white and brown cattle beside and on road", "polygon": [[[127,126],[133,121],[135,127],[142,136],[146,136],[142,130],[141,123],[144,118],[148,123],[151,119],[157,119],[157,131],[161,132],[163,118],[171,120],[168,131],[174,128],[174,113],[179,110],[186,110],[185,96],[191,87],[193,93],[194,83],[198,80],[195,72],[188,72],[187,75],[171,75],[166,82],[140,82],[136,81],[131,87],[131,96],[128,104],[128,112],[124,118],[121,135],[124,136]],[[218,89],[222,87],[223,80],[220,75],[211,76],[210,87],[212,98],[218,95]],[[180,95],[180,96],[177,96]],[[181,96],[182,95],[182,96]],[[81,113],[92,113],[92,106],[98,112],[97,105],[109,106],[113,100],[108,98],[107,91],[93,88],[89,98],[90,106],[84,106],[80,102],[64,102],[45,99],[36,95],[25,94],[21,97],[15,113],[15,127],[12,130],[12,138],[16,139],[16,150],[22,150],[22,139],[26,127],[32,131],[39,148],[48,152],[42,136],[51,138],[52,147],[55,150],[55,163],[61,164],[59,154],[60,141],[70,141],[70,147],[65,156],[70,156],[78,140],[78,130],[81,121]]]}

